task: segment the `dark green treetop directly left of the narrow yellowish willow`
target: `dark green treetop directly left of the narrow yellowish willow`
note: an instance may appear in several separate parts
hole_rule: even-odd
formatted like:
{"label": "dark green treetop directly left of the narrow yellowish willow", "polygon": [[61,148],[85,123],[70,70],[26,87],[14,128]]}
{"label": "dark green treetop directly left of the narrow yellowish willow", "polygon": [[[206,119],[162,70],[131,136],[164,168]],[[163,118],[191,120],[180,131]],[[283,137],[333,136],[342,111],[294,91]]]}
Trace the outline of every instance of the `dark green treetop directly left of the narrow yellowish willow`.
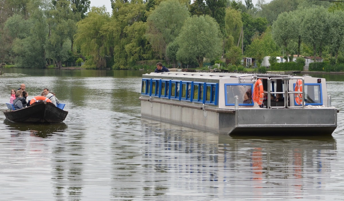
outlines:
{"label": "dark green treetop directly left of the narrow yellowish willow", "polygon": [[216,20],[220,26],[222,35],[225,35],[225,16],[226,16],[226,0],[205,0],[211,16]]}

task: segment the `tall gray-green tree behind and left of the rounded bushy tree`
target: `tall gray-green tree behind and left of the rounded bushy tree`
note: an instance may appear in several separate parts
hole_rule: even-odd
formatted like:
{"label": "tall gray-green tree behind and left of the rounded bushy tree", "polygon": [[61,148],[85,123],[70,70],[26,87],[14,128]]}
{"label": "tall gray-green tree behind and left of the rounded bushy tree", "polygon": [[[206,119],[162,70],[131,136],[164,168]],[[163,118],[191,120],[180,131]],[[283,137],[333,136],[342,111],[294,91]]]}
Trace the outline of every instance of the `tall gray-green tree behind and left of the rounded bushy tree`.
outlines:
{"label": "tall gray-green tree behind and left of the rounded bushy tree", "polygon": [[168,60],[166,47],[179,34],[189,11],[178,0],[167,0],[151,12],[147,18],[147,38],[154,51]]}

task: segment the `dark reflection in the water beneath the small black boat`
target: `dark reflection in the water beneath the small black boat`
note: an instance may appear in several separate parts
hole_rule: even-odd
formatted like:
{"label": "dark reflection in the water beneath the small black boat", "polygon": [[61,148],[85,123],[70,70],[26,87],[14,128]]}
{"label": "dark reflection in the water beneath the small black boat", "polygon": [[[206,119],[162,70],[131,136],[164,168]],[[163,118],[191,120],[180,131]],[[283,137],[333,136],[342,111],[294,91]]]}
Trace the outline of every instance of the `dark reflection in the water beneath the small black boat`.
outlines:
{"label": "dark reflection in the water beneath the small black boat", "polygon": [[32,123],[15,123],[8,119],[4,120],[4,124],[18,134],[18,131],[29,132],[31,135],[47,138],[51,137],[53,134],[58,134],[64,132],[68,126],[65,123],[52,123],[52,124],[32,124]]}

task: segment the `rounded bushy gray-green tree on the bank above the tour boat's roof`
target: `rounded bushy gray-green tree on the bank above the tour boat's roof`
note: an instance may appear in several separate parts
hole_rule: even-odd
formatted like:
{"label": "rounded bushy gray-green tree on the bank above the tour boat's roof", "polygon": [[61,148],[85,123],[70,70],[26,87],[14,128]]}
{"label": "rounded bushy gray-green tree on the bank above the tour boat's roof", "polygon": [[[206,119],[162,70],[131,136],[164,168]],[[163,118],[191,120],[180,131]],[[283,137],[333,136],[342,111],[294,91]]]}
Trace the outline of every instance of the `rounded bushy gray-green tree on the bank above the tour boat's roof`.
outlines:
{"label": "rounded bushy gray-green tree on the bank above the tour boat's roof", "polygon": [[219,25],[211,16],[189,17],[182,27],[178,38],[177,59],[194,58],[200,67],[203,59],[216,59],[222,50],[222,33]]}

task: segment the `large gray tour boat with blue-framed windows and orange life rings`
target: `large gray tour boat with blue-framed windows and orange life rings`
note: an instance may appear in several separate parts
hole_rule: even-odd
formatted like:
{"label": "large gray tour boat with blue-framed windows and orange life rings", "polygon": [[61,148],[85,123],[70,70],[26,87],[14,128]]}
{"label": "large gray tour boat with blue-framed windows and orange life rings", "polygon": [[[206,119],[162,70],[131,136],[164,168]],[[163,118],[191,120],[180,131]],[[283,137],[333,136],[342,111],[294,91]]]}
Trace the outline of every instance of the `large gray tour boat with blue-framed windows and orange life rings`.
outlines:
{"label": "large gray tour boat with blue-framed windows and orange life rings", "polygon": [[141,115],[225,134],[332,134],[337,109],[311,76],[163,72],[142,75]]}

